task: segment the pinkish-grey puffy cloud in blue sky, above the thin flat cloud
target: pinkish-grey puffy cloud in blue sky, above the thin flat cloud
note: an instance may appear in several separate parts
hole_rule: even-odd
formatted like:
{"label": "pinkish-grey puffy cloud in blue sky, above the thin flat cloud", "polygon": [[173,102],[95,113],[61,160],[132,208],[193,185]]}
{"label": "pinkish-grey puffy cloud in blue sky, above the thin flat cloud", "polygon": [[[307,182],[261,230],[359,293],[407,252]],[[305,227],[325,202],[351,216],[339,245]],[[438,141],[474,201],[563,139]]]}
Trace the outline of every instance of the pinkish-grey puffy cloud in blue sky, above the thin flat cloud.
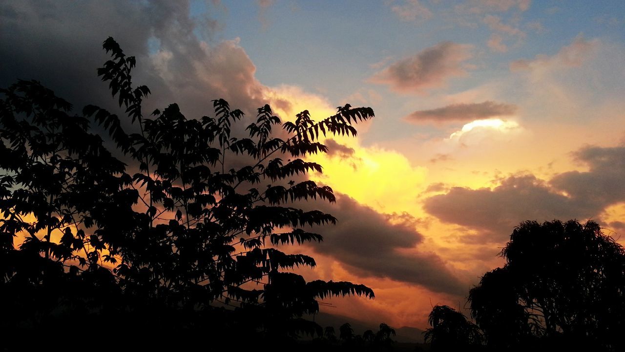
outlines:
{"label": "pinkish-grey puffy cloud in blue sky, above the thin flat cloud", "polygon": [[450,77],[466,75],[462,63],[471,57],[471,46],[444,41],[392,63],[372,76],[371,81],[404,93],[420,92],[443,86]]}

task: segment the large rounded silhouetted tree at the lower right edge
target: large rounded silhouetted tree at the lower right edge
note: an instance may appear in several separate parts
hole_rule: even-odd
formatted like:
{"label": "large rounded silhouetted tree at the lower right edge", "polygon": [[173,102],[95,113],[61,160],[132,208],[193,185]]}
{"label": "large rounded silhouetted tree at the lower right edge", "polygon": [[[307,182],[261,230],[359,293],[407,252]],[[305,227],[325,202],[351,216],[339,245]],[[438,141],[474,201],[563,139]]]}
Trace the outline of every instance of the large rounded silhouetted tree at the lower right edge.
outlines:
{"label": "large rounded silhouetted tree at the lower right edge", "polygon": [[501,256],[469,292],[489,346],[622,350],[625,251],[596,222],[522,222]]}

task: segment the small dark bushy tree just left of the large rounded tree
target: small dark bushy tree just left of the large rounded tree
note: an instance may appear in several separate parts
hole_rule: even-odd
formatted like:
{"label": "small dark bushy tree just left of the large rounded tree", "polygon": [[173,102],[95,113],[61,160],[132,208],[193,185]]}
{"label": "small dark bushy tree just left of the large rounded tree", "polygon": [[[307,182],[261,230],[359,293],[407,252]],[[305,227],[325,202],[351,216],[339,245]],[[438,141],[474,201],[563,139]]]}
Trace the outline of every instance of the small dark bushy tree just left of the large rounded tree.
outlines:
{"label": "small dark bushy tree just left of the large rounded tree", "polygon": [[482,346],[482,334],[476,324],[449,306],[432,308],[425,331],[425,341],[432,351],[474,350]]}

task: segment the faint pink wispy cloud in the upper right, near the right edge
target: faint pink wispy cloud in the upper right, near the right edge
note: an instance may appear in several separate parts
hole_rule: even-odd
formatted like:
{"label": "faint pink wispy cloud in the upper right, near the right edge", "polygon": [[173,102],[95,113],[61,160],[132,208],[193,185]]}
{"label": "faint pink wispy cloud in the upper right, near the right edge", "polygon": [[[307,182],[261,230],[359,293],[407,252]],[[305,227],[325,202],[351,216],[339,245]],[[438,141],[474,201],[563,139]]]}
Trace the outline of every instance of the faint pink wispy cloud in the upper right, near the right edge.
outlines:
{"label": "faint pink wispy cloud in the upper right, near the right edge", "polygon": [[512,71],[536,71],[549,68],[579,67],[599,45],[598,39],[586,40],[577,37],[570,45],[564,46],[554,55],[538,54],[534,60],[516,60],[510,64]]}

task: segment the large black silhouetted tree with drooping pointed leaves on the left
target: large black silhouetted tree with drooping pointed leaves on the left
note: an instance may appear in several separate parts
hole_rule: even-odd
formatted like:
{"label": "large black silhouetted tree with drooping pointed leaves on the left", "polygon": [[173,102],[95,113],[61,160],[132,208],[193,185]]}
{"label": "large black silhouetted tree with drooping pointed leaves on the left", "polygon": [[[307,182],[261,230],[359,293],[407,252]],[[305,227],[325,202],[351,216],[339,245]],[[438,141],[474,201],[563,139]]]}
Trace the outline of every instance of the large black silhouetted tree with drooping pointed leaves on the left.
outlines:
{"label": "large black silhouetted tree with drooping pointed leaves on the left", "polygon": [[[339,106],[318,122],[304,110],[281,123],[264,105],[249,138],[236,138],[231,127],[244,113],[221,99],[214,118],[187,119],[176,104],[144,116],[150,91],[133,86],[134,57],[113,38],[103,48],[112,58],[98,75],[138,133],[98,106],[70,115],[36,81],[1,90],[0,328],[86,319],[272,339],[321,335],[302,319],[319,298],[373,298],[351,282],[304,281],[289,270],[314,259],[276,247],[322,241],[305,226],[336,222],[289,205],[335,201],[330,187],[301,180],[322,171],[304,157],[327,152],[320,134],[355,136],[371,108]],[[280,126],[284,137],[273,137]],[[16,249],[18,235],[26,238]]]}

